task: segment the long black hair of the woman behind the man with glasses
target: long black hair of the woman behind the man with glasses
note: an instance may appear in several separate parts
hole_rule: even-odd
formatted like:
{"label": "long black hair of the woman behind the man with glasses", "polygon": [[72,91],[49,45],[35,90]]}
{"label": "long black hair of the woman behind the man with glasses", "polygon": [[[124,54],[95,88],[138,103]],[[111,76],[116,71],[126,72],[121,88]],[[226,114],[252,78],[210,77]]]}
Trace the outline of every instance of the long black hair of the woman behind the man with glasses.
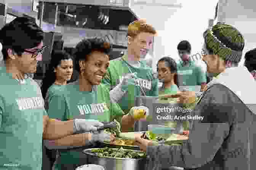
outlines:
{"label": "long black hair of the woman behind the man with glasses", "polygon": [[41,91],[43,98],[45,99],[48,88],[55,82],[56,74],[54,68],[61,64],[61,60],[72,59],[72,57],[61,50],[56,50],[51,53],[51,61],[48,70],[45,73],[45,77],[42,80]]}

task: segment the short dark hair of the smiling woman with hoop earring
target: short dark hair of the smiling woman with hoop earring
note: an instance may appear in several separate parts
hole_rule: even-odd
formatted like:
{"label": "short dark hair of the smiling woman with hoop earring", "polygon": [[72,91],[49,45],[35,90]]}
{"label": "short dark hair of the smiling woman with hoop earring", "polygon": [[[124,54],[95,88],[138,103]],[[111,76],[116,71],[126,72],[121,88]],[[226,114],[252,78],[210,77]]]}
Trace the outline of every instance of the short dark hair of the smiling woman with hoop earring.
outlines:
{"label": "short dark hair of the smiling woman with hoop earring", "polygon": [[112,46],[103,38],[90,38],[83,39],[75,47],[74,57],[75,57],[75,69],[80,72],[79,61],[87,60],[87,56],[93,51],[104,52],[109,54],[112,50]]}

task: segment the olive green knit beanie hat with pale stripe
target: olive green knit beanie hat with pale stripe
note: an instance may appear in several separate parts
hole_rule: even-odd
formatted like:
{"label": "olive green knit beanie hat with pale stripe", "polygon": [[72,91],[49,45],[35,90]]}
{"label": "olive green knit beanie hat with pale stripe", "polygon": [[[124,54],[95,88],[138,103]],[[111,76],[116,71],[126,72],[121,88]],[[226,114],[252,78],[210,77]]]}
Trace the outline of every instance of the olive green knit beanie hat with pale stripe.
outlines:
{"label": "olive green knit beanie hat with pale stripe", "polygon": [[239,63],[245,40],[242,34],[231,25],[217,23],[203,33],[206,46],[225,61]]}

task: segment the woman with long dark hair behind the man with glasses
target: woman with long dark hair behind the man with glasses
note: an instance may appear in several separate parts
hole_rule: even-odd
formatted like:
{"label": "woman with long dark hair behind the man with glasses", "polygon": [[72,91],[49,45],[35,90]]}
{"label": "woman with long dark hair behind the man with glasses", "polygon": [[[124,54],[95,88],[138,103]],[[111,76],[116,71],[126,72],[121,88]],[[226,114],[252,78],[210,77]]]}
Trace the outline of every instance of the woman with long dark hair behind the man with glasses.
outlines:
{"label": "woman with long dark hair behind the man with glasses", "polygon": [[[53,51],[49,69],[42,81],[42,95],[45,99],[45,109],[53,94],[63,85],[67,84],[73,72],[73,60],[69,54],[63,51]],[[43,144],[43,165],[42,170],[51,169],[56,161],[56,150],[49,150]],[[47,162],[50,162],[47,164]],[[49,165],[50,164],[50,165]],[[48,168],[46,167],[48,166]]]}

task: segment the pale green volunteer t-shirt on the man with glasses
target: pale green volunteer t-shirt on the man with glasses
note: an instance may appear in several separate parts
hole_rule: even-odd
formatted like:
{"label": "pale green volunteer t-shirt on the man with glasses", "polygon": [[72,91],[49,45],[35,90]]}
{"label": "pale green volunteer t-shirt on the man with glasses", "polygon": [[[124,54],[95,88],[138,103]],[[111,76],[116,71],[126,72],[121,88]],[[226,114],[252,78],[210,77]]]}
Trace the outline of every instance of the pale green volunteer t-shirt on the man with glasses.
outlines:
{"label": "pale green volunteer t-shirt on the man with glasses", "polygon": [[6,68],[0,81],[0,170],[41,170],[44,101],[27,78],[19,84]]}

